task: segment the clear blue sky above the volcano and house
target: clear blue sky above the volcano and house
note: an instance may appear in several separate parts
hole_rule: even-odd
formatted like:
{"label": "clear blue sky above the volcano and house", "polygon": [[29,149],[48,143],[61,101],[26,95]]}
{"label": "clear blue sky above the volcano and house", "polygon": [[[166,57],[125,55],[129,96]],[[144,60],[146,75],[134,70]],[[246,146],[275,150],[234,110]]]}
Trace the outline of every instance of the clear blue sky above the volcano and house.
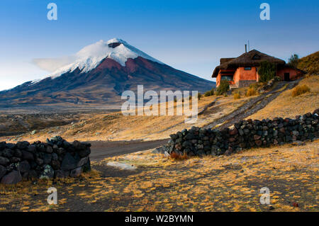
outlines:
{"label": "clear blue sky above the volcano and house", "polygon": [[[47,4],[57,4],[57,21]],[[260,4],[270,5],[261,21]],[[257,49],[283,60],[319,50],[319,1],[0,1],[0,90],[44,77],[35,58],[64,57],[121,38],[152,57],[211,79],[220,57]]]}

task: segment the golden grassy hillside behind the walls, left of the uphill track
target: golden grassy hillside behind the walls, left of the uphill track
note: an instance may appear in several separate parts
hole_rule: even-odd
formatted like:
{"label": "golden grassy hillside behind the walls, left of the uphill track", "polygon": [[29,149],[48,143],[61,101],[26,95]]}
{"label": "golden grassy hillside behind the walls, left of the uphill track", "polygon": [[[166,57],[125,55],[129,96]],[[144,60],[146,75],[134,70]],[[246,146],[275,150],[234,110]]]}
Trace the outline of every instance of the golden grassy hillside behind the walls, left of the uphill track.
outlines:
{"label": "golden grassy hillside behind the walls, left of the uphill track", "polygon": [[[216,100],[217,98],[217,100]],[[196,125],[203,126],[216,118],[227,115],[242,106],[251,97],[234,100],[233,96],[208,96],[198,101],[198,112],[216,101],[198,116]],[[176,111],[177,103],[174,103]],[[168,109],[167,105],[167,109]],[[58,127],[39,130],[31,135],[27,132],[19,140],[45,141],[47,137],[60,135],[65,140],[158,140],[169,137],[169,134],[191,128],[194,124],[185,123],[185,116],[145,116],[122,115],[121,112],[107,114],[81,115],[77,122]],[[2,137],[0,140],[6,140]],[[11,139],[14,139],[11,137]]]}

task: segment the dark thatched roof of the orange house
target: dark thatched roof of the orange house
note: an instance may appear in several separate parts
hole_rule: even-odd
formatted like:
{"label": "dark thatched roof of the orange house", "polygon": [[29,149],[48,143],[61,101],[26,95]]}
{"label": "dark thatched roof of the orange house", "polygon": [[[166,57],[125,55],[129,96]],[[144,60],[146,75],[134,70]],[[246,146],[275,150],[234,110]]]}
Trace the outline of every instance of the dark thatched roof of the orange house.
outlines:
{"label": "dark thatched roof of the orange house", "polygon": [[286,64],[284,60],[269,56],[257,50],[251,50],[250,52],[246,52],[237,58],[221,58],[220,65],[216,67],[212,77],[217,77],[220,69],[230,69],[237,67],[259,67],[260,63],[264,61],[272,62],[277,65]]}

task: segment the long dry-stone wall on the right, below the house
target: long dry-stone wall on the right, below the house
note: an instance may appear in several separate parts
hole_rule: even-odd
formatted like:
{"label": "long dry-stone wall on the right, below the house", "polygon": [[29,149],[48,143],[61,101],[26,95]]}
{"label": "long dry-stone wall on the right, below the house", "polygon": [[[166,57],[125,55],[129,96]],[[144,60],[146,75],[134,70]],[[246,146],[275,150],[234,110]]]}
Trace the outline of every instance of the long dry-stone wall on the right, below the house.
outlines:
{"label": "long dry-stone wall on the right, below the house", "polygon": [[289,142],[313,140],[319,137],[317,109],[313,114],[298,115],[295,119],[241,120],[233,128],[212,130],[193,127],[170,135],[167,145],[154,152],[203,156],[232,154],[252,147],[269,147]]}

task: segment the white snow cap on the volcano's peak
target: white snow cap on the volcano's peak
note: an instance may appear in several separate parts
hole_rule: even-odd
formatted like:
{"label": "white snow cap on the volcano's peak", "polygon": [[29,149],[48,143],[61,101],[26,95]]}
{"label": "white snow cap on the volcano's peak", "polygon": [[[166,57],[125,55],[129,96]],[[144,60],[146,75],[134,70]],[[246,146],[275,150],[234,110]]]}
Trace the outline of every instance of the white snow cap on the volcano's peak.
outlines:
{"label": "white snow cap on the volcano's peak", "polygon": [[[163,64],[119,38],[113,38],[108,41],[99,40],[97,43],[87,45],[82,50],[79,50],[74,57],[76,59],[74,62],[57,69],[49,77],[55,79],[66,72],[73,72],[77,68],[81,72],[89,72],[91,69],[96,68],[106,57],[115,60],[123,67],[125,67],[125,62],[129,58],[135,59],[136,57],[143,57],[147,60]],[[32,84],[35,83],[36,81]]]}

